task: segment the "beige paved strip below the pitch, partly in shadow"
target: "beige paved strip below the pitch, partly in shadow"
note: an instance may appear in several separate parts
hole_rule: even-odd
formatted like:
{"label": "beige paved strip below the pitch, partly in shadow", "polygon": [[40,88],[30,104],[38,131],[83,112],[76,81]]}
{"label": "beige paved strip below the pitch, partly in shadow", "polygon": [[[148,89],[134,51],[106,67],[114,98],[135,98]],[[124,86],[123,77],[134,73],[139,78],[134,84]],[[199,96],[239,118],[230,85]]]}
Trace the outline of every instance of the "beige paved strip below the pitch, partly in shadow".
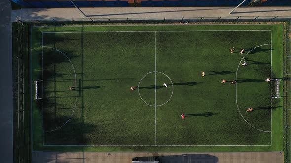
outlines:
{"label": "beige paved strip below the pitch, partly in shadow", "polygon": [[283,152],[33,152],[32,163],[131,163],[133,157],[161,163],[283,163]]}

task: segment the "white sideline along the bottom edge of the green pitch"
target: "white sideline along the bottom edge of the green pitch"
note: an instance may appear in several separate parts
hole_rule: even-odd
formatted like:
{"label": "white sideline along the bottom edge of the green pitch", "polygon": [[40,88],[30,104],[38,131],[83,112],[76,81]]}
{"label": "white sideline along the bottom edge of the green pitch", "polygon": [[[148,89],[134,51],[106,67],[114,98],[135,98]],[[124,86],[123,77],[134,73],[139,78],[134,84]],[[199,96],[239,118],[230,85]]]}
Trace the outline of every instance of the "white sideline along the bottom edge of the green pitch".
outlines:
{"label": "white sideline along the bottom edge of the green pitch", "polygon": [[100,146],[100,147],[231,147],[231,146],[271,146],[270,144],[262,145],[44,145],[44,146]]}

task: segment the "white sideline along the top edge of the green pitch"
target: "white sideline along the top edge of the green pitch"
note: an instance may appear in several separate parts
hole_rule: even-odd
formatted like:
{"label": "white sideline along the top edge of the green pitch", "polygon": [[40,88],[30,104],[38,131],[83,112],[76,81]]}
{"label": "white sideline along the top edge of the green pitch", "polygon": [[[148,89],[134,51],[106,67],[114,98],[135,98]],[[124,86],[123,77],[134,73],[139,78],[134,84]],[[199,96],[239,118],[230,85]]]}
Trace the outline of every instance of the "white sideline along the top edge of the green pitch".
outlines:
{"label": "white sideline along the top edge of the green pitch", "polygon": [[271,30],[169,30],[169,31],[68,31],[68,32],[43,32],[46,33],[130,33],[130,32],[239,32],[239,31],[271,31]]}

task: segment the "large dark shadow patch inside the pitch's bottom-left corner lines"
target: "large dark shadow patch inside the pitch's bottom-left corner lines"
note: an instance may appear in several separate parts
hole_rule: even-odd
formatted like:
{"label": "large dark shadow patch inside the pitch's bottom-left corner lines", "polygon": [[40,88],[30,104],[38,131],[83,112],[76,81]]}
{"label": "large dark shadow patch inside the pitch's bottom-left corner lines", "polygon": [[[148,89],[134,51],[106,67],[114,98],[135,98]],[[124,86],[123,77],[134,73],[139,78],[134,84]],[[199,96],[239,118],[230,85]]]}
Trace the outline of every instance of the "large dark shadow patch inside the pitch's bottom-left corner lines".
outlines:
{"label": "large dark shadow patch inside the pitch's bottom-left corner lines", "polygon": [[[44,133],[45,144],[92,144],[94,143],[92,136],[100,138],[102,131],[106,130],[102,125],[86,123],[76,117],[70,119],[70,115],[63,116],[61,112],[56,114],[53,110],[44,110],[43,116],[44,131],[54,130]],[[69,119],[70,121],[61,127]]]}

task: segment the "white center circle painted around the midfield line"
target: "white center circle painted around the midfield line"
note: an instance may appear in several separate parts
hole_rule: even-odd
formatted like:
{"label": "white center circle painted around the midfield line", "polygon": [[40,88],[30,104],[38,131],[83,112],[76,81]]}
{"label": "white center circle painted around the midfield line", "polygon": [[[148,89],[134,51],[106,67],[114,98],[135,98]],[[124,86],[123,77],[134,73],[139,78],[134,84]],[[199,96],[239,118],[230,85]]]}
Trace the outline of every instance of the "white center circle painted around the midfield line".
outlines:
{"label": "white center circle painted around the midfield line", "polygon": [[[166,84],[168,85],[167,88],[166,88],[165,86],[162,86],[163,83],[165,83],[166,81],[163,81],[163,83],[159,83],[158,86],[157,86],[157,85],[151,85],[151,86],[147,86],[147,87],[141,87],[141,86],[140,86],[141,81],[142,81],[146,76],[150,75],[151,73],[154,73],[154,76],[155,76],[155,78],[154,78],[155,84],[156,84],[156,80],[157,80],[157,78],[156,78],[157,73],[158,73],[159,75],[166,76],[167,79],[169,79],[169,81],[170,81],[171,83],[166,83]],[[150,80],[150,81],[152,81],[152,80]],[[160,88],[169,89],[170,87],[172,87],[172,93],[171,93],[171,96],[169,97],[169,99],[168,99],[166,102],[164,102],[163,104],[158,105],[158,104],[156,103],[156,97],[157,97],[156,92],[157,92],[157,89],[160,89]],[[140,92],[141,89],[148,89],[148,90],[150,90],[150,89],[154,89],[154,90],[155,90],[155,97],[154,97],[154,98],[155,98],[155,100],[154,100],[154,101],[155,101],[155,104],[150,104],[149,102],[146,102],[145,98],[143,98],[142,95],[141,95],[141,92]],[[143,78],[140,80],[139,85],[138,85],[138,92],[139,92],[140,98],[143,100],[144,103],[146,103],[147,105],[152,106],[152,107],[159,107],[159,106],[162,106],[162,105],[166,104],[167,102],[169,102],[169,100],[172,98],[172,95],[173,95],[173,92],[174,92],[174,86],[173,86],[173,82],[172,82],[172,80],[171,80],[171,79],[170,79],[166,74],[164,74],[164,73],[162,73],[162,72],[159,72],[159,71],[152,71],[152,72],[146,73],[146,74],[143,76]],[[150,96],[150,97],[152,97],[152,96]]]}

